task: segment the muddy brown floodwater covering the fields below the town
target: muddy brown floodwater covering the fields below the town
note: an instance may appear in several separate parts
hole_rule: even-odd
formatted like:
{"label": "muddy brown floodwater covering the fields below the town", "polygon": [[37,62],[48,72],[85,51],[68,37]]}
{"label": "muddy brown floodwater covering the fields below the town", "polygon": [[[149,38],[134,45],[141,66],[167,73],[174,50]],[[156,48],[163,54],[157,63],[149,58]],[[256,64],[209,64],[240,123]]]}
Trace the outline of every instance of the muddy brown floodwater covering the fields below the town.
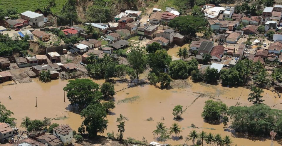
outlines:
{"label": "muddy brown floodwater covering the fields below the town", "polygon": [[[146,75],[142,75],[146,77]],[[102,84],[104,80],[94,80],[98,84]],[[175,80],[175,85],[178,84]],[[14,112],[14,116],[17,119],[17,126],[21,124],[21,119],[25,116],[34,119],[43,119],[44,117],[56,118],[58,120],[52,120],[52,123],[69,124],[74,130],[81,125],[82,119],[79,114],[70,112],[70,102],[66,98],[64,102],[63,87],[66,86],[67,81],[53,80],[50,83],[44,84],[40,81],[31,83],[0,86],[0,99],[1,104],[4,104],[7,109]],[[183,84],[183,82],[179,82]],[[115,90],[119,91],[127,87],[127,83],[115,84]],[[174,87],[170,90],[160,90],[151,85],[142,85],[134,88],[127,88],[125,90],[117,92],[115,97],[116,107],[112,113],[107,116],[109,120],[107,132],[117,133],[116,118],[120,114],[128,118],[125,122],[124,138],[132,137],[137,140],[141,140],[144,136],[148,142],[158,141],[157,136],[152,134],[155,130],[157,122],[163,122],[168,128],[174,123],[178,123],[182,127],[180,135],[184,137],[183,140],[176,139],[172,136],[171,140],[166,141],[171,145],[177,144],[192,144],[192,141],[186,141],[186,137],[190,131],[191,124],[195,124],[195,130],[206,131],[207,133],[219,133],[222,136],[229,135],[232,138],[233,145],[269,145],[270,139],[254,137],[250,135],[237,134],[232,129],[223,129],[223,124],[212,125],[205,123],[201,117],[203,111],[204,102],[210,99],[209,96],[204,96],[198,93],[204,93],[212,96],[214,100],[221,100],[226,105],[251,105],[247,101],[249,89],[242,87],[227,88],[219,85],[209,85],[205,83],[193,83],[191,80],[185,81],[185,86]],[[276,95],[271,91],[264,90],[263,97],[264,103],[271,106],[271,108],[281,109],[282,105],[280,98],[274,98]],[[8,97],[11,96],[12,99]],[[37,97],[37,107],[36,98]],[[197,98],[199,97],[199,98]],[[240,98],[239,98],[240,97]],[[175,105],[182,105],[184,108],[189,108],[182,114],[183,120],[173,120],[172,109]],[[64,118],[66,116],[66,118]],[[153,121],[147,121],[149,117],[153,118]],[[20,130],[25,130],[19,127]],[[173,134],[172,134],[173,135]],[[204,144],[206,144],[204,142]],[[280,145],[281,142],[275,141],[275,145]]]}

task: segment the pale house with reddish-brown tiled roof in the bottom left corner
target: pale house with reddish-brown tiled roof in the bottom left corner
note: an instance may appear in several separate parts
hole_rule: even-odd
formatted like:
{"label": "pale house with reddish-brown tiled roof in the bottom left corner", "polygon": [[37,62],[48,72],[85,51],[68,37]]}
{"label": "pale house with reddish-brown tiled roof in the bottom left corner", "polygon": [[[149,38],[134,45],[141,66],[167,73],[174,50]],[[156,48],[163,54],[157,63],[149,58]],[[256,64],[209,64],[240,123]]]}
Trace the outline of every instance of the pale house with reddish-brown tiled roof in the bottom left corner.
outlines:
{"label": "pale house with reddish-brown tiled roof in the bottom left corner", "polygon": [[9,126],[9,124],[0,123],[0,142],[6,143],[9,142],[12,138],[14,138],[13,131],[14,130]]}

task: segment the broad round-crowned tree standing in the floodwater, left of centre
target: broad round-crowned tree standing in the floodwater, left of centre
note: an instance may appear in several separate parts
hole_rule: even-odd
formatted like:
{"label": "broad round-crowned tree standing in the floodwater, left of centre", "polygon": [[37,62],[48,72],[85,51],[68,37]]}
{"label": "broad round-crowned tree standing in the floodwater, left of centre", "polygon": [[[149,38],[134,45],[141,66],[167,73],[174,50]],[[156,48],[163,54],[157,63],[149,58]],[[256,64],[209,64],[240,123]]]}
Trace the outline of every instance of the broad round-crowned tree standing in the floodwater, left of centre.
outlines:
{"label": "broad round-crowned tree standing in the floodwater, left of centre", "polygon": [[77,105],[80,110],[90,103],[100,101],[103,96],[98,91],[99,85],[90,79],[69,80],[63,90],[68,92],[67,97],[70,104]]}

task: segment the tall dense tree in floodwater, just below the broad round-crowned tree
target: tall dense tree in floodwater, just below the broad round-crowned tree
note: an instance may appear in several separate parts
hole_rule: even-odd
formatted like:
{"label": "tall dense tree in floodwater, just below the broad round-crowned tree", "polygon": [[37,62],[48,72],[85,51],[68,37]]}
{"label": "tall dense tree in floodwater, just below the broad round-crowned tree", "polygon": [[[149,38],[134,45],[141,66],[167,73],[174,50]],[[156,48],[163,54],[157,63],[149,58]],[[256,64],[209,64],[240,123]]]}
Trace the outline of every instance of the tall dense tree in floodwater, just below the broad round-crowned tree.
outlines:
{"label": "tall dense tree in floodwater, just below the broad round-crowned tree", "polygon": [[82,126],[86,127],[86,131],[90,137],[97,136],[97,133],[103,133],[107,128],[108,120],[106,120],[107,112],[100,103],[88,105],[80,112],[81,118],[84,118]]}

